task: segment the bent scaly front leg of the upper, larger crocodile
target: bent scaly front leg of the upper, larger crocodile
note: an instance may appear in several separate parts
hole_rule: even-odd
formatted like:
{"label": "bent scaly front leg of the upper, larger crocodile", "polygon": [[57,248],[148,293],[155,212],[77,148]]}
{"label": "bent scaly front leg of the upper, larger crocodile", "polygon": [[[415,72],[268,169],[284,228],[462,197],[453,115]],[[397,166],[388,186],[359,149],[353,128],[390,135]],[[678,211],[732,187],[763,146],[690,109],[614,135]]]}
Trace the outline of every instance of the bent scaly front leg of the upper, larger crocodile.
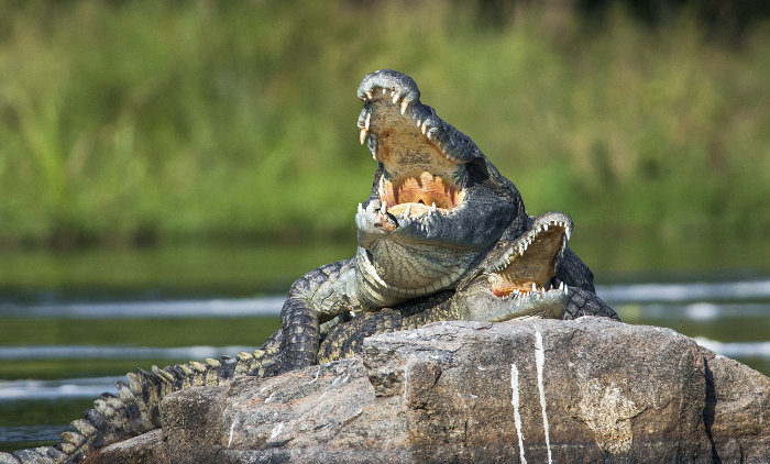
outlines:
{"label": "bent scaly front leg of the upper, larger crocodile", "polygon": [[295,281],[280,309],[280,372],[316,364],[319,323],[359,308],[355,259],[323,265]]}

